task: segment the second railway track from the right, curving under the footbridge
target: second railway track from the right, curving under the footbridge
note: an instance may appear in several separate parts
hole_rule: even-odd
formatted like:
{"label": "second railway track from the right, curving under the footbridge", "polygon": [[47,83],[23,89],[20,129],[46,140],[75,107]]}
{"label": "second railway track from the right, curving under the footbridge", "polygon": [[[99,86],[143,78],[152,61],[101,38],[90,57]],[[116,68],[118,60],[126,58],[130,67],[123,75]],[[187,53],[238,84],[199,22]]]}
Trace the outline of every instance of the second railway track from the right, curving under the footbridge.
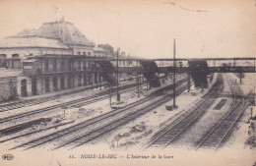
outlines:
{"label": "second railway track from the right, curving under the footbridge", "polygon": [[[202,117],[205,111],[212,105],[218,94],[223,90],[224,83],[221,75],[218,75],[216,83],[202,97],[202,99],[190,108],[182,117],[175,120],[169,126],[155,135],[146,148],[166,147],[178,139],[187,129]],[[145,149],[146,149],[145,148]]]}

